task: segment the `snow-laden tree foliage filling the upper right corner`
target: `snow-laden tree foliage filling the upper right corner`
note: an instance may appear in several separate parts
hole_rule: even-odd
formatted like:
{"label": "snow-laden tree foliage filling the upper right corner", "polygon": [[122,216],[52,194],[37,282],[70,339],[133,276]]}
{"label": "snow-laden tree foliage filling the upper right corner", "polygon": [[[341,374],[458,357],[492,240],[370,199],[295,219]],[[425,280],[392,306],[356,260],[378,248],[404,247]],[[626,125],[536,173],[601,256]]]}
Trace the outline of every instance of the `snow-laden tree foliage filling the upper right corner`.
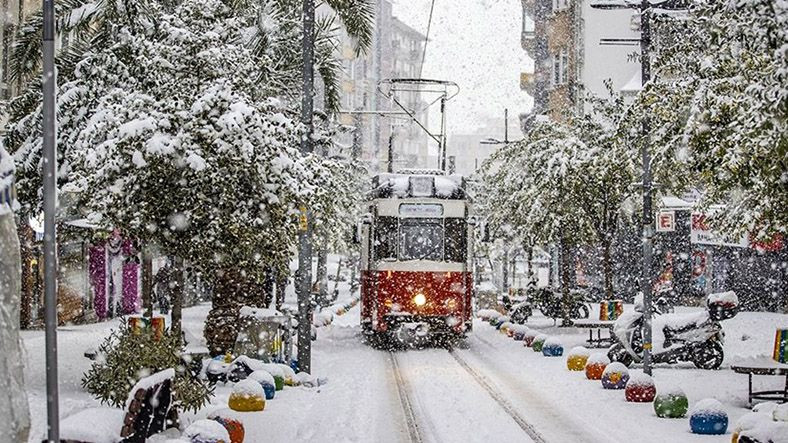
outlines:
{"label": "snow-laden tree foliage filling the upper right corner", "polygon": [[[663,19],[643,112],[703,187],[712,223],[769,237],[788,226],[788,5],[700,0]],[[669,38],[670,36],[673,38]]]}

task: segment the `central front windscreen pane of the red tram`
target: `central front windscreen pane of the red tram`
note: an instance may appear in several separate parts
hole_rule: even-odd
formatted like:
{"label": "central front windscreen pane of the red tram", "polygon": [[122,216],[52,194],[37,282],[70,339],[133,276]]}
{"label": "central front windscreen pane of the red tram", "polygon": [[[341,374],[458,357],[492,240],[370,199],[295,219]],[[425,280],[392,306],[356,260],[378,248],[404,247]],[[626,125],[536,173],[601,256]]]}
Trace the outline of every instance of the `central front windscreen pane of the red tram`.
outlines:
{"label": "central front windscreen pane of the red tram", "polygon": [[443,224],[440,219],[403,219],[400,260],[443,260]]}

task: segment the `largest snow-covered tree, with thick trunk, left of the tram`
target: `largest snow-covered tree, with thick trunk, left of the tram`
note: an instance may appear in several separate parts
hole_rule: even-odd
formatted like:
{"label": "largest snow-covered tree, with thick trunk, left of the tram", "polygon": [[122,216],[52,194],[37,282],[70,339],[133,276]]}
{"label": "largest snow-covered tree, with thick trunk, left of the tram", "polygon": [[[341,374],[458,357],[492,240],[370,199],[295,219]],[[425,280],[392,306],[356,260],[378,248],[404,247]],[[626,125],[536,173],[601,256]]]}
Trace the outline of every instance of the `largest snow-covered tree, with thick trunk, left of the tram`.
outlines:
{"label": "largest snow-covered tree, with thick trunk, left of the tram", "polygon": [[[340,11],[368,4],[346,3],[337,3],[347,9],[337,10],[343,23],[349,16]],[[188,258],[214,279],[206,336],[212,352],[223,352],[238,308],[262,302],[266,267],[289,260],[297,208],[324,186],[323,172],[297,151],[300,66],[286,55],[300,51],[291,26],[300,9],[288,1],[146,5],[144,20],[94,18],[113,38],[88,27],[95,45],[72,51],[78,61],[58,91],[59,180],[91,220]],[[364,31],[368,22],[356,20]],[[318,60],[331,53],[332,30],[318,29]],[[8,141],[30,211],[40,205],[40,113],[35,85],[12,103]]]}

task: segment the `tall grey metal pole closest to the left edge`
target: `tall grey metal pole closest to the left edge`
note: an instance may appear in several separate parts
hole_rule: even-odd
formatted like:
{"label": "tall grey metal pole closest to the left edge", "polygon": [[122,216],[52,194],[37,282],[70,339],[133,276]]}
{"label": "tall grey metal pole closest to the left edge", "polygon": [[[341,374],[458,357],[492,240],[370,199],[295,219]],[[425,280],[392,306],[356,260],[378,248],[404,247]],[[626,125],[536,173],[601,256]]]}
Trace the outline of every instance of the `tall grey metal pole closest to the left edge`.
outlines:
{"label": "tall grey metal pole closest to the left edge", "polygon": [[56,138],[55,138],[55,3],[43,0],[44,72],[43,88],[43,185],[44,185],[44,322],[46,325],[47,371],[47,438],[60,441],[60,412],[58,411],[57,383],[57,232],[55,230],[55,205],[57,201]]}

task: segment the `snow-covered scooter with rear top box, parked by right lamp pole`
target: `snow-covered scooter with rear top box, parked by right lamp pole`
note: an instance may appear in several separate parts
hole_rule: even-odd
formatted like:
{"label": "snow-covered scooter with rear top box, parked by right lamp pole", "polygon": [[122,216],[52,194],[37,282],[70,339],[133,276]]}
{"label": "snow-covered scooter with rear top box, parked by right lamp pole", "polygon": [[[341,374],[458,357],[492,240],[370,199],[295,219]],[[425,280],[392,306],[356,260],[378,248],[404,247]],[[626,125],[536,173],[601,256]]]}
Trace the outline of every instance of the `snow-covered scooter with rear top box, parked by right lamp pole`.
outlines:
{"label": "snow-covered scooter with rear top box, parked by right lamp pole", "polygon": [[[739,311],[735,292],[711,294],[706,310],[691,314],[657,315],[652,322],[652,361],[688,361],[700,369],[718,369],[725,357],[720,321]],[[616,343],[608,350],[611,361],[626,366],[643,359],[643,298],[635,297],[635,312],[622,315],[613,326]]]}

